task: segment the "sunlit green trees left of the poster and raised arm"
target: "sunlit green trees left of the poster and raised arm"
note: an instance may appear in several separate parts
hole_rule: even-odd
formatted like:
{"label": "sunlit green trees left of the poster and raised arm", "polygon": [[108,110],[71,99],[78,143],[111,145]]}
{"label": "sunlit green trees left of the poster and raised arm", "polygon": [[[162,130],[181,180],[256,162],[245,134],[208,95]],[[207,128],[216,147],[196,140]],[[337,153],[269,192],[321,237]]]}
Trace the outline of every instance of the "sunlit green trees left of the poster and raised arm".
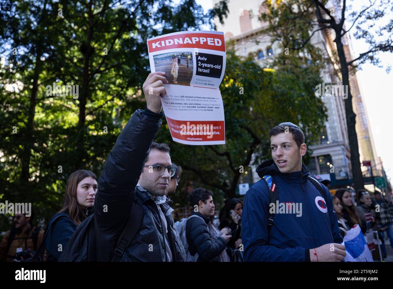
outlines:
{"label": "sunlit green trees left of the poster and raised arm", "polygon": [[[193,0],[2,1],[0,202],[31,202],[48,220],[73,171],[99,176],[121,129],[144,106],[146,39],[212,26],[225,16],[220,7],[204,14]],[[78,97],[50,95],[53,82],[77,85]]]}

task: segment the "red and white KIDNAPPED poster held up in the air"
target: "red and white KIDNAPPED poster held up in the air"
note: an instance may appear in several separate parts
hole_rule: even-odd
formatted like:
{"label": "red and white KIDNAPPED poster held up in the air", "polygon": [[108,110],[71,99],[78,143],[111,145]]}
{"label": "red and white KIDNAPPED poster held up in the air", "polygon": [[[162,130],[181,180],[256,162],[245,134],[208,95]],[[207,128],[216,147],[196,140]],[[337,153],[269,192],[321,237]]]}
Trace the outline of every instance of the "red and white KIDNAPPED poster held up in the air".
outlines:
{"label": "red and white KIDNAPPED poster held up in the air", "polygon": [[219,91],[226,62],[224,34],[176,32],[148,39],[147,47],[151,71],[164,71],[168,81],[162,106],[173,141],[225,144]]}

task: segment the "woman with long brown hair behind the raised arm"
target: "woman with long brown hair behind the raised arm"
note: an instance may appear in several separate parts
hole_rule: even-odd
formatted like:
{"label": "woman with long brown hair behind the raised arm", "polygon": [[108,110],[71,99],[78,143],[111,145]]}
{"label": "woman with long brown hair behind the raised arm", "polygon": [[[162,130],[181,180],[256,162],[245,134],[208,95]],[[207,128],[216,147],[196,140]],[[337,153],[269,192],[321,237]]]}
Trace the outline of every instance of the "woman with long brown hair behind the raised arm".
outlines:
{"label": "woman with long brown hair behind the raised arm", "polygon": [[[90,170],[77,170],[68,177],[61,210],[49,221],[46,238],[46,260],[57,262],[76,227],[92,214],[97,176]],[[55,223],[51,224],[57,216]]]}

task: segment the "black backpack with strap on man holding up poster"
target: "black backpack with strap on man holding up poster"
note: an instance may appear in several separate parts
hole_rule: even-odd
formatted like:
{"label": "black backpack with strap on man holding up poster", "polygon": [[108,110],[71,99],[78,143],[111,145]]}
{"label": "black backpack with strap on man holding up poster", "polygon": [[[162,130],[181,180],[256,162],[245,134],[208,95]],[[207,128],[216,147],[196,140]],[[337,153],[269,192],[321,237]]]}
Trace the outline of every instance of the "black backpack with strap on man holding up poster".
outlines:
{"label": "black backpack with strap on man holding up poster", "polygon": [[[118,262],[123,252],[134,240],[143,221],[142,201],[134,193],[129,218],[121,232],[114,250],[111,262]],[[98,229],[98,228],[97,228]],[[97,261],[97,236],[95,231],[94,214],[84,219],[73,232],[67,245],[58,260],[59,262],[96,262]]]}

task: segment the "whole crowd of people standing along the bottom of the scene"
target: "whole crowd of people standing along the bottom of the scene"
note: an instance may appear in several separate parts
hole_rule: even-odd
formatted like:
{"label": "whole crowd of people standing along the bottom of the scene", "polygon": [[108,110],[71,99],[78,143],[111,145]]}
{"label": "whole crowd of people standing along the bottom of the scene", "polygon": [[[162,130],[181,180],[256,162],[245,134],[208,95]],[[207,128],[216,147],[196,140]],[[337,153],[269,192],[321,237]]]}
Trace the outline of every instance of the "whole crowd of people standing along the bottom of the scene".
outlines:
{"label": "whole crowd of people standing along the bottom of the scene", "polygon": [[[347,189],[331,196],[302,163],[305,137],[293,123],[270,131],[272,159],[257,167],[261,180],[248,190],[244,203],[226,199],[217,223],[213,193],[195,188],[188,195],[191,216],[175,222],[169,196],[182,169],[172,162],[167,144],[153,141],[163,117],[164,74],[147,77],[147,106],[124,127],[101,177],[88,170],[73,172],[62,208],[45,230],[33,225],[33,214],[15,214],[15,227],[0,244],[0,258],[341,262],[347,255],[346,232],[356,224],[365,232],[366,213],[372,214],[380,239],[387,232],[393,246],[392,204],[378,192],[373,203],[365,190],[358,192],[357,207]],[[381,248],[386,255],[384,244]]]}

